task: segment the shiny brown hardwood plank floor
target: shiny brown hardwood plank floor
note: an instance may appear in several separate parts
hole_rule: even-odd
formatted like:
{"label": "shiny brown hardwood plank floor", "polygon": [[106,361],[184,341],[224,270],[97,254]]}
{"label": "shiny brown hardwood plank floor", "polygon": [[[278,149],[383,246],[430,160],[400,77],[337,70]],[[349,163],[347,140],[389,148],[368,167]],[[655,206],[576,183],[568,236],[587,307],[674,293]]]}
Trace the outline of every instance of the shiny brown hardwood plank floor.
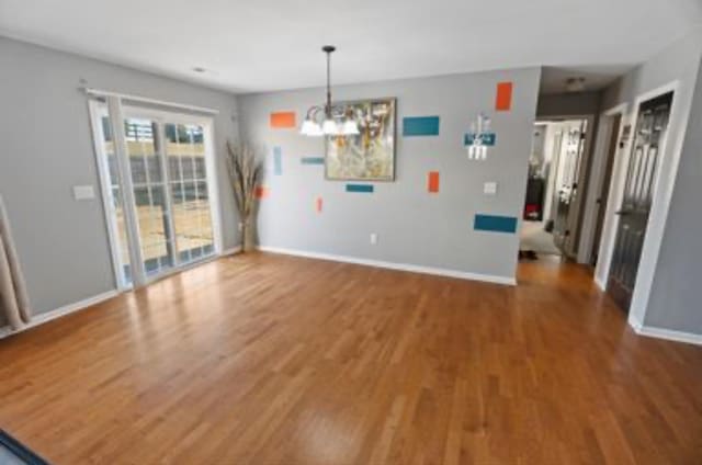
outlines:
{"label": "shiny brown hardwood plank floor", "polygon": [[222,259],[0,341],[0,428],[54,464],[699,464],[702,348],[573,264],[518,287]]}

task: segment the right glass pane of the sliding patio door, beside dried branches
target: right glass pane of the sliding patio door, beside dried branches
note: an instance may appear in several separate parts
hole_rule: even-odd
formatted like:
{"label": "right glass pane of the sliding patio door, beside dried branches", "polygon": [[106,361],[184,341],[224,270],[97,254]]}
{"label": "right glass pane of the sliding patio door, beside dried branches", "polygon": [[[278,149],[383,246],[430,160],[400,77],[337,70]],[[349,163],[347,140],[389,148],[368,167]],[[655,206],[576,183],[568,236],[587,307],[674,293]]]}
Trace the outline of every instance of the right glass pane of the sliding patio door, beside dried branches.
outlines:
{"label": "right glass pane of the sliding patio door, beside dried branches", "polygon": [[204,128],[167,123],[166,154],[178,258],[190,263],[214,254]]}

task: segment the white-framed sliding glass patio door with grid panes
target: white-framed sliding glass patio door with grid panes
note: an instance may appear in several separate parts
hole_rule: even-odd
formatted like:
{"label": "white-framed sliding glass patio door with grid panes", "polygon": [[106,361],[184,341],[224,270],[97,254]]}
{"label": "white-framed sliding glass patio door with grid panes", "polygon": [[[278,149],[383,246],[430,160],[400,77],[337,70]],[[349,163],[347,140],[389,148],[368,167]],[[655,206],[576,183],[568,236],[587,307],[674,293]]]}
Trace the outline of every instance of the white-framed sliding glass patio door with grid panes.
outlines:
{"label": "white-framed sliding glass patio door with grid panes", "polygon": [[217,253],[211,120],[116,99],[90,105],[118,286]]}

